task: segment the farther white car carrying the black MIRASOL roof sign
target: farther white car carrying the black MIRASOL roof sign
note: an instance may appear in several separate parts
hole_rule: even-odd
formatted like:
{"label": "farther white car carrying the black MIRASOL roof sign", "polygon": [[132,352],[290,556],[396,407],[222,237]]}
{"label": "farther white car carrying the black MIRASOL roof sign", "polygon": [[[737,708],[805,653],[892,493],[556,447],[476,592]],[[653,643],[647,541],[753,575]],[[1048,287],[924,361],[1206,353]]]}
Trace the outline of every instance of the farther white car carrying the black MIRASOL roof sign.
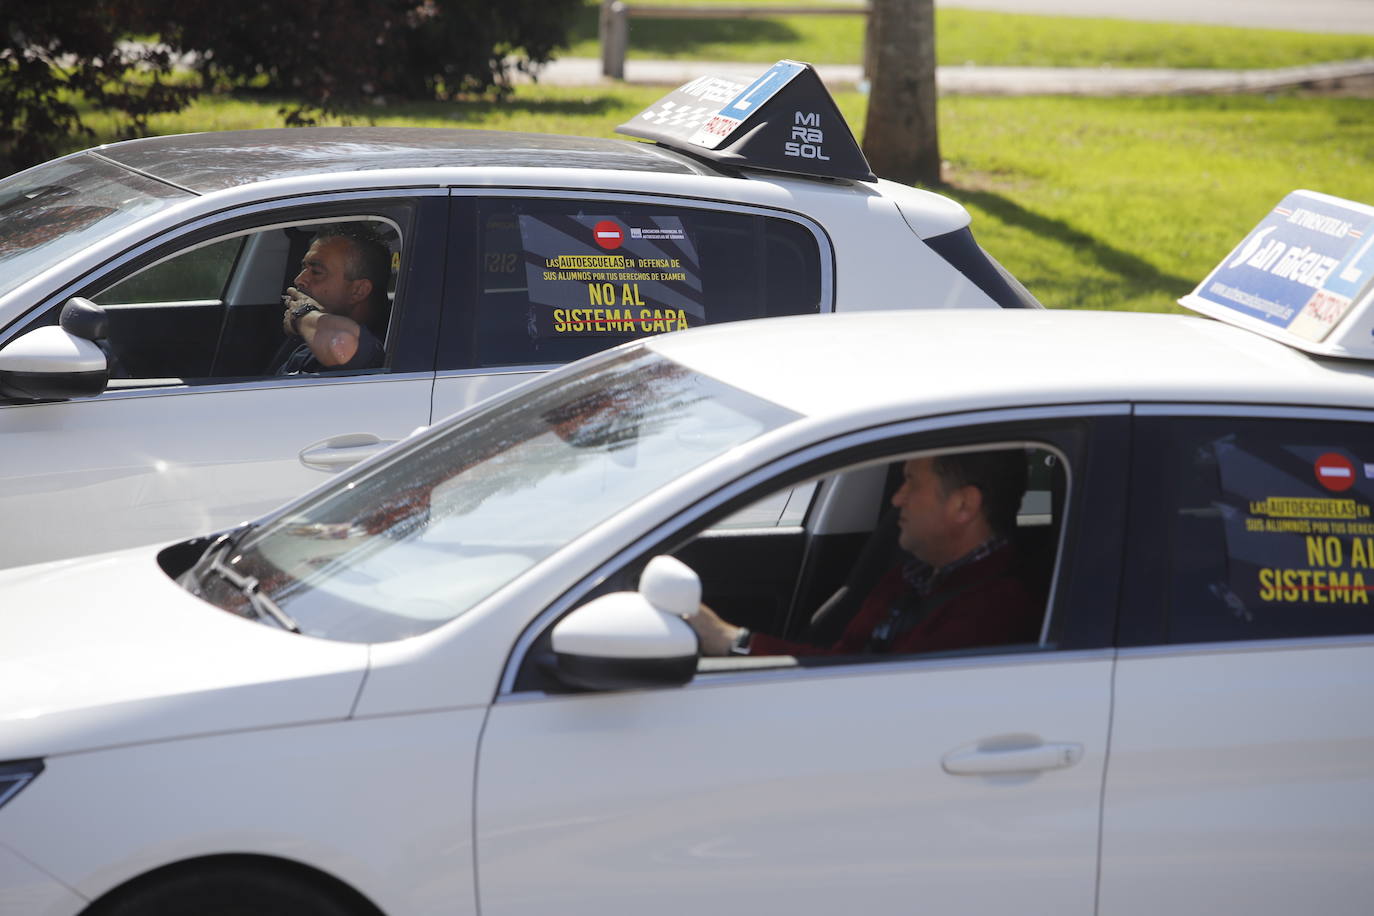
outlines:
{"label": "farther white car carrying the black MIRASOL roof sign", "polygon": [[[731,137],[716,113],[735,96],[752,114]],[[706,122],[716,132],[697,137]],[[694,81],[625,130],[658,143],[201,133],[0,181],[0,567],[236,525],[534,372],[649,334],[1037,306],[962,206],[874,180],[809,67]],[[282,293],[338,224],[390,250],[386,363],[275,375],[290,349]]]}

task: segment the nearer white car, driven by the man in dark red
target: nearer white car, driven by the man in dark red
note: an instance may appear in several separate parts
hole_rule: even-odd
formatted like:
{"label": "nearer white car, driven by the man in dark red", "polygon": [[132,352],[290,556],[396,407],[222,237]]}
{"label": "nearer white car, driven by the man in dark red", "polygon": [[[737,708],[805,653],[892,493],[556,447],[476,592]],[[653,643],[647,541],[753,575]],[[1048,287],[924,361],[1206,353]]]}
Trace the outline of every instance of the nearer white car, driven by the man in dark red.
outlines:
{"label": "nearer white car, driven by the man in dark red", "polygon": [[[989,450],[1033,630],[824,654],[892,468]],[[0,912],[1363,915],[1371,507],[1374,368],[1206,319],[625,345],[0,574]],[[822,654],[698,659],[702,597]]]}

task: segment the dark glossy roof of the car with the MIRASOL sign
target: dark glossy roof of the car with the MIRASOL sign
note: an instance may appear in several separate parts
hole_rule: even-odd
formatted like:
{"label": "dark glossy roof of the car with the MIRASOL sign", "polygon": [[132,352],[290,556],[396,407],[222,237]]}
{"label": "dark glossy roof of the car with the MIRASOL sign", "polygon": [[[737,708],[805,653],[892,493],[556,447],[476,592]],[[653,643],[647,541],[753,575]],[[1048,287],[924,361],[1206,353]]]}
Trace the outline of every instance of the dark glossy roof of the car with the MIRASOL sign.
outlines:
{"label": "dark glossy roof of the car with the MIRASOL sign", "polygon": [[416,168],[720,174],[650,143],[469,128],[271,128],[111,143],[95,154],[196,194],[273,179]]}

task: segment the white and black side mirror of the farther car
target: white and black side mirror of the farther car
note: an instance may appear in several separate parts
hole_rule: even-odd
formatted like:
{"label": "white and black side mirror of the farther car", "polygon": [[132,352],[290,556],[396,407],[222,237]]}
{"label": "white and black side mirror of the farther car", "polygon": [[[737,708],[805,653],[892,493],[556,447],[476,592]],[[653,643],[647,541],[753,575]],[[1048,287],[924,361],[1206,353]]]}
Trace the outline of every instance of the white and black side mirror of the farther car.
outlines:
{"label": "white and black side mirror of the farther car", "polygon": [[56,325],[34,328],[0,349],[0,396],[8,398],[93,397],[109,380],[104,352]]}

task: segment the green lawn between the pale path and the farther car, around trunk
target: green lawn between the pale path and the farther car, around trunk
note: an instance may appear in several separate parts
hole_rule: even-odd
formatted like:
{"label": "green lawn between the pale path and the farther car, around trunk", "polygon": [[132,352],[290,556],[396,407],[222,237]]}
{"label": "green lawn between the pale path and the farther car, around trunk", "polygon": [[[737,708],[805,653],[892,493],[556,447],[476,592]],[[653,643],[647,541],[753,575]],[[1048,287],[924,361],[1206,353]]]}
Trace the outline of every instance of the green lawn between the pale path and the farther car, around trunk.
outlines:
{"label": "green lawn between the pale path and the farther car, around trunk", "polygon": [[[356,122],[613,136],[661,93],[522,87],[506,103],[407,104]],[[857,133],[866,98],[837,100]],[[1051,306],[1172,310],[1286,192],[1374,202],[1371,99],[954,96],[940,106],[941,192],[969,207],[982,244]],[[276,126],[276,107],[206,98],[154,128]]]}

